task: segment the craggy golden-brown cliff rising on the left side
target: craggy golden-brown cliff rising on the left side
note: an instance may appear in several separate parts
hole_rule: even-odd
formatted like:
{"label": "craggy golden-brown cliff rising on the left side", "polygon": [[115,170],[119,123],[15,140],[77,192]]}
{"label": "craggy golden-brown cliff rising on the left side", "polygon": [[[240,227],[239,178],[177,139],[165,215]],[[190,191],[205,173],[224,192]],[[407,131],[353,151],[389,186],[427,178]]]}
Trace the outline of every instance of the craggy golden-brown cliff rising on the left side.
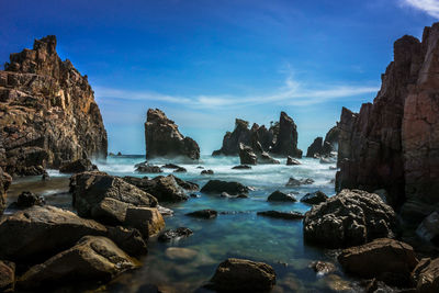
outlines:
{"label": "craggy golden-brown cliff rising on the left side", "polygon": [[87,80],[56,53],[56,37],[11,54],[0,71],[0,167],[38,174],[65,160],[106,157],[108,139]]}

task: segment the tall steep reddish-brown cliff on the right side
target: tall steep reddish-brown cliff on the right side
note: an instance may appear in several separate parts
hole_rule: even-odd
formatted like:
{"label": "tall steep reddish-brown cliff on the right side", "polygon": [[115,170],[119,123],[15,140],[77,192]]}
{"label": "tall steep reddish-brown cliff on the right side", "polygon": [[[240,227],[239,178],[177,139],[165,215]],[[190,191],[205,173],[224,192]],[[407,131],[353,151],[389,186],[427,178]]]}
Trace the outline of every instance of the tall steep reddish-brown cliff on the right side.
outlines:
{"label": "tall steep reddish-brown cliff on the right side", "polygon": [[373,103],[342,110],[336,188],[386,189],[389,202],[439,203],[439,24],[404,36]]}

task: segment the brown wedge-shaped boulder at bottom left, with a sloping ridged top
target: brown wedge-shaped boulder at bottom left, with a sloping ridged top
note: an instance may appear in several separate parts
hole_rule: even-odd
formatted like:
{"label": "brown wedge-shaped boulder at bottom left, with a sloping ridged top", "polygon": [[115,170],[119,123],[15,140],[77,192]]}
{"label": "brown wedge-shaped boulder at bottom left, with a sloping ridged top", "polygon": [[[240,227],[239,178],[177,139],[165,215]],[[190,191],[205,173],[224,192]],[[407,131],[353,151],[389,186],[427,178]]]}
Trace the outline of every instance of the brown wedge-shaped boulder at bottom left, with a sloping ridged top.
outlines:
{"label": "brown wedge-shaped boulder at bottom left, with a sloping ridged top", "polygon": [[138,262],[105,237],[86,236],[68,250],[36,264],[19,280],[22,289],[49,288],[65,281],[110,281]]}

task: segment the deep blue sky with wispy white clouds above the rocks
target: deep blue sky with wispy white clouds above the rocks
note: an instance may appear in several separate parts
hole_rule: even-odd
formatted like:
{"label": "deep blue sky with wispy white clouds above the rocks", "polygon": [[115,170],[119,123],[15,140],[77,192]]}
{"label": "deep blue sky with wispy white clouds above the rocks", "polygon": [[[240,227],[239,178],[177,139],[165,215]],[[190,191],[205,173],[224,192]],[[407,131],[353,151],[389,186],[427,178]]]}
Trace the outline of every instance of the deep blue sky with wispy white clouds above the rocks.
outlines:
{"label": "deep blue sky with wispy white clouds above the rocks", "polygon": [[306,151],[340,117],[372,102],[393,43],[418,38],[439,0],[0,0],[0,64],[54,34],[88,75],[109,151],[145,154],[149,108],[202,154],[235,119],[293,117]]}

